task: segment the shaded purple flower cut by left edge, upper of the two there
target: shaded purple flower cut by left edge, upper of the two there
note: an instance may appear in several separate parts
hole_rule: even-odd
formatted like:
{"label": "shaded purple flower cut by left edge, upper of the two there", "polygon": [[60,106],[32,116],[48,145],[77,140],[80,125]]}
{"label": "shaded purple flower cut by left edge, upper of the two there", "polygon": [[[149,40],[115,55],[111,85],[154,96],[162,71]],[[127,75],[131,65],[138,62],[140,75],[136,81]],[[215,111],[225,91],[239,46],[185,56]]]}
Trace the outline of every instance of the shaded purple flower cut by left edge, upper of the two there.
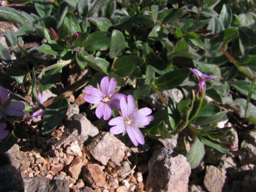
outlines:
{"label": "shaded purple flower cut by left edge, upper of the two there", "polygon": [[24,103],[20,101],[12,101],[8,99],[8,91],[0,85],[0,119],[4,115],[9,116],[23,116],[25,113],[22,111],[25,109]]}

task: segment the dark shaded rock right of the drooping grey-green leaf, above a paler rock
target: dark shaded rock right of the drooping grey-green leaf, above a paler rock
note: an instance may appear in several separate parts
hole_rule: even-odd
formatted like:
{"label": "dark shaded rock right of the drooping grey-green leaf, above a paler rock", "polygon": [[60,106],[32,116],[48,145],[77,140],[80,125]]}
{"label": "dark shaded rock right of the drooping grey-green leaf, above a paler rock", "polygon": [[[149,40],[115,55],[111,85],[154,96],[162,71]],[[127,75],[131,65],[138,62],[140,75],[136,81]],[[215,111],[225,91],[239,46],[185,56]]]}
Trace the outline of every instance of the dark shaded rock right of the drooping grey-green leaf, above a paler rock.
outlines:
{"label": "dark shaded rock right of the drooping grey-green leaf, above a paler rock", "polygon": [[215,148],[206,146],[205,148],[205,162],[209,164],[217,165],[221,160],[226,158],[225,153],[221,153]]}

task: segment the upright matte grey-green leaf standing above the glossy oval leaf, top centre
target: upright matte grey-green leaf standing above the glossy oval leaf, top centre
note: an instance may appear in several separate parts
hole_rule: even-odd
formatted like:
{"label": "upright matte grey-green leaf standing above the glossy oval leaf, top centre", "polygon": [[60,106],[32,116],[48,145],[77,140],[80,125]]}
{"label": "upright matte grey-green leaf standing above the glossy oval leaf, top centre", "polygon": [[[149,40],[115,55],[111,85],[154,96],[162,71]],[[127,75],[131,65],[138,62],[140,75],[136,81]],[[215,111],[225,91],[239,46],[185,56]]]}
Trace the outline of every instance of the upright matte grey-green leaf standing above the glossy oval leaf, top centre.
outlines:
{"label": "upright matte grey-green leaf standing above the glossy oval leaf, top centre", "polygon": [[125,38],[123,33],[114,29],[111,36],[111,46],[109,50],[109,58],[120,57],[125,51]]}

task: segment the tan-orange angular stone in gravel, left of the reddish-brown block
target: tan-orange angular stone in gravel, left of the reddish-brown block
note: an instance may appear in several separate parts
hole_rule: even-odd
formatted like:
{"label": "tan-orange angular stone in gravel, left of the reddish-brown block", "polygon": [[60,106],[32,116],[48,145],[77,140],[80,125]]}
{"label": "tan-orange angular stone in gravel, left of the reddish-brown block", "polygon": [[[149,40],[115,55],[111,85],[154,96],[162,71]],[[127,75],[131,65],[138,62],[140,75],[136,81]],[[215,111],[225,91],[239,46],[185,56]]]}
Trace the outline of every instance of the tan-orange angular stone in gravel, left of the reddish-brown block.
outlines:
{"label": "tan-orange angular stone in gravel, left of the reddish-brown block", "polygon": [[70,176],[77,180],[82,175],[84,171],[82,168],[87,164],[87,162],[88,160],[85,158],[84,153],[81,157],[76,157],[68,167]]}

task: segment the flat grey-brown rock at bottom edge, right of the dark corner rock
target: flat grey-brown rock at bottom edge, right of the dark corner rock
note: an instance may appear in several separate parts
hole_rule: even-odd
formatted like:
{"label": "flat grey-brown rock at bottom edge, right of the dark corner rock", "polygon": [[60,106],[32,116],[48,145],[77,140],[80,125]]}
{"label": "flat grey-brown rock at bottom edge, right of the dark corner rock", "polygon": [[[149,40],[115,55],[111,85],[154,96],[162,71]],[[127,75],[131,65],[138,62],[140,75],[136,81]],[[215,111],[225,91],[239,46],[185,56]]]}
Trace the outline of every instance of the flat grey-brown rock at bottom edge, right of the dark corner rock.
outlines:
{"label": "flat grey-brown rock at bottom edge, right of the dark corner rock", "polygon": [[45,177],[27,177],[28,192],[69,192],[67,180],[48,179]]}

